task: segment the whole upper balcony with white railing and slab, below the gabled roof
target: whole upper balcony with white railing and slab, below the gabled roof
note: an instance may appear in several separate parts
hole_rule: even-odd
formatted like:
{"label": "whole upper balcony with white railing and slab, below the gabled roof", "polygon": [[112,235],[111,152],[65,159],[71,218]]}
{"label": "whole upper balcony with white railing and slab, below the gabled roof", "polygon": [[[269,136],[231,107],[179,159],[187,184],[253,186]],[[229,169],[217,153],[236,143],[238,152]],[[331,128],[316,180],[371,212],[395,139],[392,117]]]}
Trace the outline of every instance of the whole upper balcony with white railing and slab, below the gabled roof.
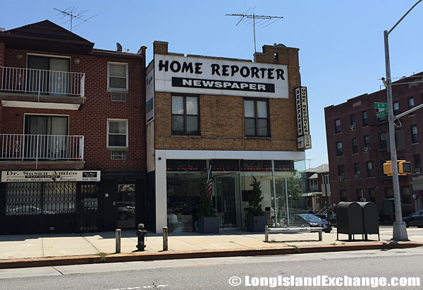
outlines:
{"label": "whole upper balcony with white railing and slab, below the gabled roof", "polygon": [[4,107],[79,109],[84,102],[85,73],[5,66],[0,66],[0,72],[0,99]]}

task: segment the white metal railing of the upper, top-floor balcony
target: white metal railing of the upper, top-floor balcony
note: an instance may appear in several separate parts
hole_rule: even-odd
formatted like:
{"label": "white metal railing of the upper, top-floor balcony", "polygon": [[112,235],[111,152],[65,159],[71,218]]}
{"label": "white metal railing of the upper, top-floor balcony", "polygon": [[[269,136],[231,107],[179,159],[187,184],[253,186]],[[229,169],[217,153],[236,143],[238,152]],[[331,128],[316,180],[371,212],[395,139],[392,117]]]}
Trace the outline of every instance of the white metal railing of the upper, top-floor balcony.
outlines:
{"label": "white metal railing of the upper, top-floor balcony", "polygon": [[0,91],[84,97],[85,73],[0,66]]}

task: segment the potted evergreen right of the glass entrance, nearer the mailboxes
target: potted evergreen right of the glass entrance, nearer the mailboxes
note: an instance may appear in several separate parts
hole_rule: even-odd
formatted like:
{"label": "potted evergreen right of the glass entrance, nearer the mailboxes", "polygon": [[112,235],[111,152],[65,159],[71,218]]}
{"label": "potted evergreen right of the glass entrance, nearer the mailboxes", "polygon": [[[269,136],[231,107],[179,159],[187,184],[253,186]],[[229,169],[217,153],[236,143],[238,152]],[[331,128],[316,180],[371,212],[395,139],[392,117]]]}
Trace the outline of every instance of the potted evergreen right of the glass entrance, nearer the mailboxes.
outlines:
{"label": "potted evergreen right of the glass entrance, nearer the mailboxes", "polygon": [[248,196],[247,207],[247,230],[248,231],[264,231],[264,226],[267,224],[267,217],[264,215],[262,205],[262,186],[260,181],[257,181],[255,176],[252,176],[252,191]]}

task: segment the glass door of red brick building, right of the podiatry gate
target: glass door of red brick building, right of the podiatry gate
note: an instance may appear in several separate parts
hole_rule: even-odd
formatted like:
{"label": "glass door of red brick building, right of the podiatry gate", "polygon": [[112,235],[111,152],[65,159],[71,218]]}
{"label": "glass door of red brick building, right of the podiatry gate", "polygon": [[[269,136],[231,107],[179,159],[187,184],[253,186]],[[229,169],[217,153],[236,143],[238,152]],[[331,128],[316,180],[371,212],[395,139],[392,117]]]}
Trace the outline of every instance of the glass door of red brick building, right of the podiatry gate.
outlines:
{"label": "glass door of red brick building, right of the podiatry gate", "polygon": [[117,227],[119,229],[135,227],[135,183],[118,184],[116,198],[118,208]]}

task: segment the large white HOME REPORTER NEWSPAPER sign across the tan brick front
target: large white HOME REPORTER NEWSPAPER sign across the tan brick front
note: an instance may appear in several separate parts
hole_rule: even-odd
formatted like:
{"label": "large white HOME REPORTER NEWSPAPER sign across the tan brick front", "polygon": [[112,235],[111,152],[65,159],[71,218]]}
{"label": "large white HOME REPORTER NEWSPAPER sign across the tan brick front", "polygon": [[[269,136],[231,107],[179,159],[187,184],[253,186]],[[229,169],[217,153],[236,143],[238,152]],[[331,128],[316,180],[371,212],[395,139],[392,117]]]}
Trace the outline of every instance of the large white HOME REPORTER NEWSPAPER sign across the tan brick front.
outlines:
{"label": "large white HOME REPORTER NEWSPAPER sign across the tan brick front", "polygon": [[207,95],[288,99],[288,66],[154,55],[155,89]]}

